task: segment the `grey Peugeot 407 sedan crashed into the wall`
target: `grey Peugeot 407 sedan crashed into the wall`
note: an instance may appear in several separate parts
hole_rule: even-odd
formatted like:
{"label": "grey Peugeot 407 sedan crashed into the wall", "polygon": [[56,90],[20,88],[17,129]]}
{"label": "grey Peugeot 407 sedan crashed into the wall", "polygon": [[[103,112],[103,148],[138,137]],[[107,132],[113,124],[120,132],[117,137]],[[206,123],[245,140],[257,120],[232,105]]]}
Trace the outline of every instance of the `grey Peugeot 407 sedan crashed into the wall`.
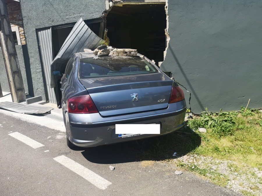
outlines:
{"label": "grey Peugeot 407 sedan crashed into the wall", "polygon": [[[53,74],[62,77],[61,106],[70,148],[169,134],[185,124],[183,90],[140,54],[98,57],[76,53],[65,73]],[[160,134],[141,130],[132,130],[139,134],[116,134],[118,124],[155,124]]]}

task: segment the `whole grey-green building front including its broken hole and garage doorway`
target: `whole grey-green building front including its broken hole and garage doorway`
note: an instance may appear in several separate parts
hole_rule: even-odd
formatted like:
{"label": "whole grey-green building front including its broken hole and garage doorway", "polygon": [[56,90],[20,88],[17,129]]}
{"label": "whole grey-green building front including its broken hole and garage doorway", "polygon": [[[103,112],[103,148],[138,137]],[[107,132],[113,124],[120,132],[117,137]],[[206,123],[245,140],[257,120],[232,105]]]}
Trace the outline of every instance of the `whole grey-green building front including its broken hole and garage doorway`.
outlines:
{"label": "whole grey-green building front including its broken hole and garage doorway", "polygon": [[[45,40],[52,60],[82,17],[102,38],[108,29],[112,46],[138,49],[172,74],[194,113],[205,107],[239,110],[249,98],[251,108],[262,107],[260,0],[21,0],[20,6],[26,50],[19,62],[24,61],[20,68],[32,96],[49,100],[50,93],[39,32],[49,32]],[[5,88],[1,61],[0,70]]]}

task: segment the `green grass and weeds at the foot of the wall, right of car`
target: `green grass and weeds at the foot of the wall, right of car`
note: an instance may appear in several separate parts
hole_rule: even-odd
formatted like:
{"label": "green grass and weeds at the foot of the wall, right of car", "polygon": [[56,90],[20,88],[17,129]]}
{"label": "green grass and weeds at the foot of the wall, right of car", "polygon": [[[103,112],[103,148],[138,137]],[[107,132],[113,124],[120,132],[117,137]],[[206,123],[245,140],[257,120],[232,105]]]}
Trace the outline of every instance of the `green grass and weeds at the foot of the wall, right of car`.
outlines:
{"label": "green grass and weeds at the foot of the wall, right of car", "polygon": [[[207,110],[207,109],[206,109]],[[192,153],[228,159],[262,170],[262,114],[241,107],[238,112],[203,112],[199,118],[189,120],[190,128],[207,129],[201,134],[201,144]]]}

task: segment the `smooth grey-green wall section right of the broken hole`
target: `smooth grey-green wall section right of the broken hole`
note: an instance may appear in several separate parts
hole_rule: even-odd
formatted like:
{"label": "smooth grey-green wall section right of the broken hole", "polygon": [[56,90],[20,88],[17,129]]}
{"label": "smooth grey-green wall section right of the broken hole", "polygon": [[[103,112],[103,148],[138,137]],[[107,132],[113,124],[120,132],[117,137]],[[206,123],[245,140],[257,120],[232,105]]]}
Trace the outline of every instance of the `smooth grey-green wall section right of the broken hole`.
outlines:
{"label": "smooth grey-green wall section right of the broken hole", "polygon": [[169,0],[168,9],[161,69],[191,92],[192,111],[239,110],[249,98],[261,108],[262,1]]}

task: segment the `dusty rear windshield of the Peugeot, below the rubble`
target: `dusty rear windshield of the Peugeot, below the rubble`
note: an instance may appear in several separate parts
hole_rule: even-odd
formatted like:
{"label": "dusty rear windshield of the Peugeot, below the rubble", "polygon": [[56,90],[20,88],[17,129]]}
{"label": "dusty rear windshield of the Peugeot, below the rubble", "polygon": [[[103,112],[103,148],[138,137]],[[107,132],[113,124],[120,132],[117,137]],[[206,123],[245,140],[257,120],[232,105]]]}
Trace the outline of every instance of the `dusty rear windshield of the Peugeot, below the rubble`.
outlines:
{"label": "dusty rear windshield of the Peugeot, below the rubble", "polygon": [[109,77],[156,73],[158,70],[143,58],[117,56],[83,58],[79,64],[79,78]]}

